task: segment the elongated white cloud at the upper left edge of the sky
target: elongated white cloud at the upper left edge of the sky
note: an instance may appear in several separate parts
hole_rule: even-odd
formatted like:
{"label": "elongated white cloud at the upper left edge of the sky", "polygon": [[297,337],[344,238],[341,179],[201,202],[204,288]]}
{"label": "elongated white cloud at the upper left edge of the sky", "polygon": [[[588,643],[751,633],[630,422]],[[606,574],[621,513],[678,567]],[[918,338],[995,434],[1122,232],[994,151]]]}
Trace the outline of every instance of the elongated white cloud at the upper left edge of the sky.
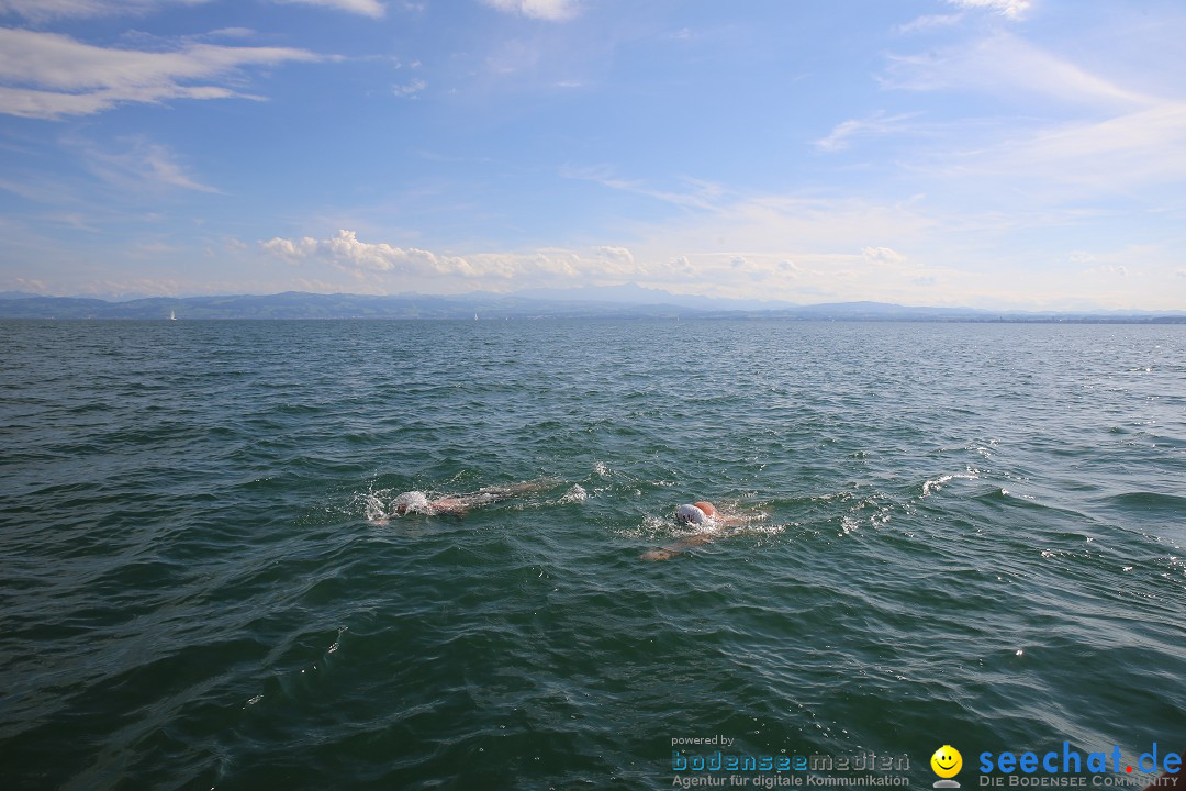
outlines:
{"label": "elongated white cloud at the upper left edge of the sky", "polygon": [[244,66],[320,59],[287,47],[187,44],[172,52],[104,49],[59,33],[0,28],[0,113],[58,119],[90,115],[127,102],[257,98],[216,81]]}

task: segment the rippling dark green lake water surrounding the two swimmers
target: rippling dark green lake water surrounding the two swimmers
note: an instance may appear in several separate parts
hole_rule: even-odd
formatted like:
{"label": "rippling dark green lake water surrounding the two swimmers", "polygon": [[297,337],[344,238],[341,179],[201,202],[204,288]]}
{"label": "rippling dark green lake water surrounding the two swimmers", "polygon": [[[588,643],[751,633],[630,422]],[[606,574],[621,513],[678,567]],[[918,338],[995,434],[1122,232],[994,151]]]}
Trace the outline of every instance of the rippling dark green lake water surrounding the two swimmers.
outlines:
{"label": "rippling dark green lake water surrounding the two swimmers", "polygon": [[[1186,746],[1182,326],[0,323],[0,361],[8,787]],[[748,521],[640,560],[697,499]]]}

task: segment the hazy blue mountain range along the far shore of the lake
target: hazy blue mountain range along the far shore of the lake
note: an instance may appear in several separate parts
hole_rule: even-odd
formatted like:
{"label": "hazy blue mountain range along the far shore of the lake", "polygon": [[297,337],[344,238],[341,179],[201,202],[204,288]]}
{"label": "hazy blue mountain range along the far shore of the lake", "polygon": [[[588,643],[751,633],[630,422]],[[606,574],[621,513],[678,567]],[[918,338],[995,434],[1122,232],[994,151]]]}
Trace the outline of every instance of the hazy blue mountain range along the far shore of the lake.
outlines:
{"label": "hazy blue mountain range along the far shore of the lake", "polygon": [[1018,312],[963,307],[907,307],[886,302],[792,302],[687,296],[637,285],[460,296],[398,294],[283,294],[153,296],[107,301],[0,292],[5,319],[565,319],[702,318],[817,321],[1082,321],[1186,324],[1186,311]]}

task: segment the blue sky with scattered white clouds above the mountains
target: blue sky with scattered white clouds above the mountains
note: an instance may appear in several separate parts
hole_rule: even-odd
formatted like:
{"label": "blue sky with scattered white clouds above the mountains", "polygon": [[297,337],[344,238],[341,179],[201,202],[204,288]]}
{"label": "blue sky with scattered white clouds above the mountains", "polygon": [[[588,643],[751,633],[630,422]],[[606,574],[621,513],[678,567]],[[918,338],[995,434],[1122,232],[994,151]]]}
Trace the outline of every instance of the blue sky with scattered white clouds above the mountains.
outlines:
{"label": "blue sky with scattered white clouds above the mountains", "polygon": [[0,291],[1186,310],[1180,0],[0,0]]}

